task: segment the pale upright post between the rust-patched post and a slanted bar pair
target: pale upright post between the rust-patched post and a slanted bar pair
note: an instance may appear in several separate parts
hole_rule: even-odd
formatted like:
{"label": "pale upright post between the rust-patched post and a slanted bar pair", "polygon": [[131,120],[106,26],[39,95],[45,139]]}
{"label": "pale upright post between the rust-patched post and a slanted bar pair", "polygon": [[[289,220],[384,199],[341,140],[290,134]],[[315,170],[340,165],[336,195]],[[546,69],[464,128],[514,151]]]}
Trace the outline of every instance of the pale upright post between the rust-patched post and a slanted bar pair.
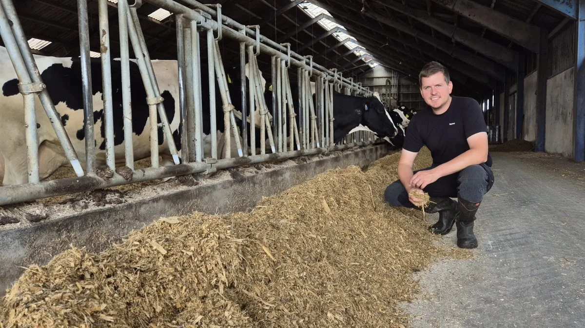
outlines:
{"label": "pale upright post between the rust-patched post and a slanted bar pair", "polygon": [[[123,3],[122,3],[123,2]],[[122,73],[122,111],[124,122],[124,152],[126,166],[134,170],[132,134],[132,107],[130,98],[130,54],[128,48],[128,3],[118,1],[118,28],[120,35],[120,66]]]}

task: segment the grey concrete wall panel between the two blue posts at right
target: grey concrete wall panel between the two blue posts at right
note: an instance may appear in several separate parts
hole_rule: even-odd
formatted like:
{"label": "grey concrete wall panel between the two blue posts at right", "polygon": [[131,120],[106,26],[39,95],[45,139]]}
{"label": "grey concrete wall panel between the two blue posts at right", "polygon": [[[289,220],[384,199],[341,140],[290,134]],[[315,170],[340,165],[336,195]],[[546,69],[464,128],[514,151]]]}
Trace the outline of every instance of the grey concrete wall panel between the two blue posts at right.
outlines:
{"label": "grey concrete wall panel between the two blue posts at right", "polygon": [[573,67],[546,82],[545,152],[573,158],[573,94]]}

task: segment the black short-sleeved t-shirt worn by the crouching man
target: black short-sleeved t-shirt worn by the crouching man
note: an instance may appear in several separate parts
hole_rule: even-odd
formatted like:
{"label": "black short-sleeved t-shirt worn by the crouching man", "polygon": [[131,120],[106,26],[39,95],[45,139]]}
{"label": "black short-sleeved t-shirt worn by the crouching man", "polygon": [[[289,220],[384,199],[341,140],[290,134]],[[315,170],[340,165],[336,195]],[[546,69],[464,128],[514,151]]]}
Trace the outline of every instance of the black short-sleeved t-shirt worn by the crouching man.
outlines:
{"label": "black short-sleeved t-shirt worn by the crouching man", "polygon": [[[473,98],[451,96],[449,109],[436,115],[430,107],[412,117],[402,148],[419,152],[422,146],[431,151],[433,166],[449,162],[469,151],[467,138],[477,132],[487,132],[479,103]],[[491,167],[491,156],[487,155]]]}

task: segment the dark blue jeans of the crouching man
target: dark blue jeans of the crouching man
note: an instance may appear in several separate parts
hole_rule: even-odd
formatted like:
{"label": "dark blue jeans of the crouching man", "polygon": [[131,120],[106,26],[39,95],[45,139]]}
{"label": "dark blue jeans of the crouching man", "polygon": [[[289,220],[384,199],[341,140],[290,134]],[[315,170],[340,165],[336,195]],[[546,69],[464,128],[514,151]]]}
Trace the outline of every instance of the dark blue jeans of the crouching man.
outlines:
{"label": "dark blue jeans of the crouching man", "polygon": [[[430,170],[430,168],[422,170]],[[416,174],[417,170],[414,173]],[[473,203],[480,203],[483,195],[494,185],[494,173],[487,165],[472,165],[453,173],[440,177],[423,190],[431,197],[461,197]],[[408,193],[400,180],[396,180],[386,188],[384,199],[392,206],[414,207],[408,200]]]}

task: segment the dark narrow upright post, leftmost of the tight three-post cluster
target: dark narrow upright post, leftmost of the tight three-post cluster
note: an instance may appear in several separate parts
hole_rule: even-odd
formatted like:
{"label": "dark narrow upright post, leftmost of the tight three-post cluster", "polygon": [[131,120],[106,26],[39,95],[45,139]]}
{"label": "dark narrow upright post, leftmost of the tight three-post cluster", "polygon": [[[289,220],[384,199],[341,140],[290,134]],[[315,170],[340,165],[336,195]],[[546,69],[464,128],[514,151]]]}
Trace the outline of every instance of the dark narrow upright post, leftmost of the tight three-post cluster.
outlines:
{"label": "dark narrow upright post, leftmost of the tight three-post cluster", "polygon": [[177,76],[179,86],[179,114],[181,119],[181,162],[189,162],[187,149],[187,95],[185,94],[185,44],[183,43],[183,14],[175,15],[177,30]]}

